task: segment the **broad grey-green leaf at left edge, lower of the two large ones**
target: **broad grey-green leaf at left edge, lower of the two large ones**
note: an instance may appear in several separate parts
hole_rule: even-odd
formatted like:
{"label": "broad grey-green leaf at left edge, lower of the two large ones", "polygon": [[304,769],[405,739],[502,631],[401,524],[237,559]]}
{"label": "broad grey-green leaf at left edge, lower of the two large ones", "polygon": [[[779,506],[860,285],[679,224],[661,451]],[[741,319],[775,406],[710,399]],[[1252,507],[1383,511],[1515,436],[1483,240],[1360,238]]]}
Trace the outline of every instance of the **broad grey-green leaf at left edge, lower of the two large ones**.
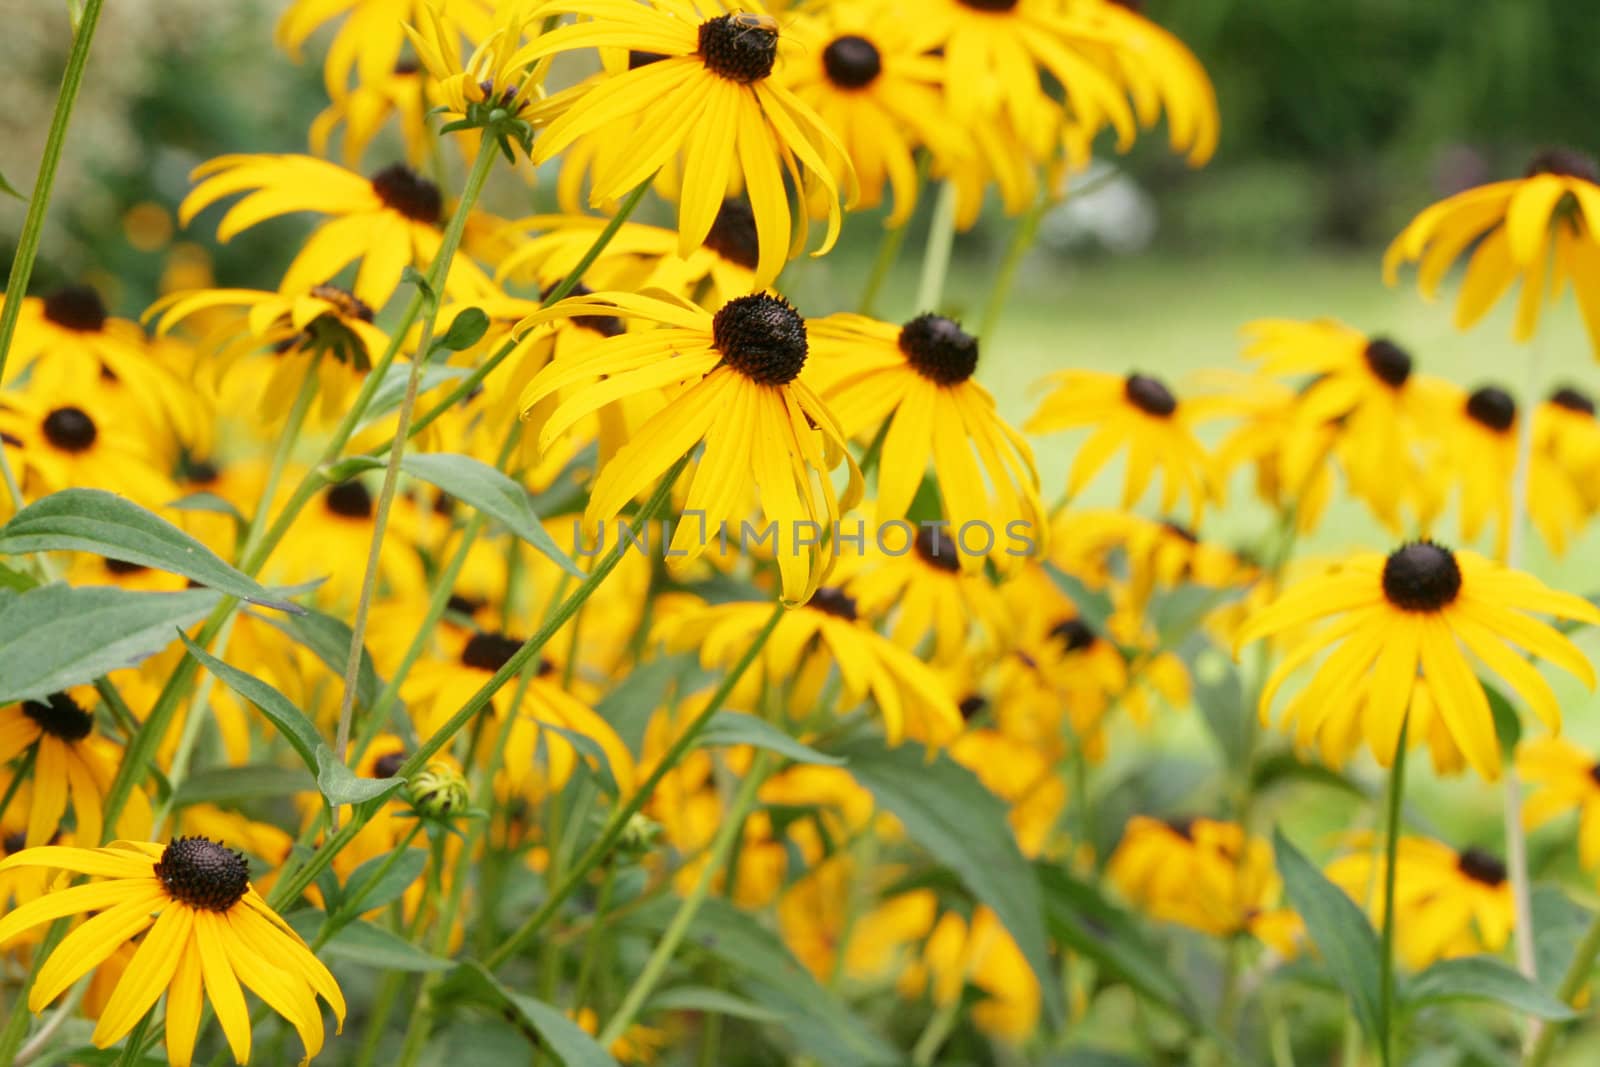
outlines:
{"label": "broad grey-green leaf at left edge, lower of the two large ones", "polygon": [[131,667],[211,614],[219,593],[147,593],[110,585],[42,585],[0,611],[0,704],[43,699]]}

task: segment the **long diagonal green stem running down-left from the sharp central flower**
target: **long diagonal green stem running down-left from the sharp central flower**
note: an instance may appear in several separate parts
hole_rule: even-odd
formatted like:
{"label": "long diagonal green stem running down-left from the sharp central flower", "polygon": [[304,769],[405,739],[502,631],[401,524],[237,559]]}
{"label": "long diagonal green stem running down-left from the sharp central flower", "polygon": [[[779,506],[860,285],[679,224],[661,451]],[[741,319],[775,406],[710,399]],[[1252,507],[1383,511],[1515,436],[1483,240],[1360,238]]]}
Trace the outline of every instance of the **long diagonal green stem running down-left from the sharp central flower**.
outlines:
{"label": "long diagonal green stem running down-left from the sharp central flower", "polygon": [[[656,518],[672,494],[672,485],[678,480],[678,475],[683,474],[686,466],[688,456],[675,462],[672,469],[667,470],[661,485],[656,486],[654,494],[640,510],[638,522],[648,523]],[[562,625],[573,617],[578,608],[581,608],[582,603],[594,595],[595,589],[605,582],[611,571],[616,569],[618,563],[622,561],[622,553],[627,550],[626,541],[614,544],[611,550],[595,565],[595,569],[589,573],[589,577],[584,579],[576,590],[573,590],[573,595],[562,601],[562,606],[550,616],[549,622],[546,622],[538,633],[530,637],[522,648],[512,653],[510,659],[507,659],[501,669],[496,670],[494,675],[490,677],[490,680],[485,681],[483,686],[474,693],[454,715],[451,715],[450,721],[446,721],[432,737],[418,745],[418,750],[411,753],[395,774],[400,777],[411,777],[421,768],[427,766],[427,761],[438,755],[438,752],[451,742],[456,733],[483,712],[490,701],[494,699],[494,694],[499,693],[507,681],[517,677],[522,669],[533,661],[533,657],[538,656],[546,645],[550,643],[550,638],[555,637],[557,630],[560,630]],[[333,837],[326,838],[306,861],[306,864],[293,873],[293,877],[285,875],[278,878],[278,883],[272,886],[272,896],[267,897],[267,902],[274,907],[282,907],[290,901],[298,899],[299,894],[317,880],[317,875],[322,873],[330,862],[333,862],[333,857],[339,854],[339,849],[355,838],[357,832],[360,832],[362,825],[373,817],[379,806],[382,806],[382,800],[358,805],[352,819],[339,827]],[[621,827],[618,832],[621,832]]]}

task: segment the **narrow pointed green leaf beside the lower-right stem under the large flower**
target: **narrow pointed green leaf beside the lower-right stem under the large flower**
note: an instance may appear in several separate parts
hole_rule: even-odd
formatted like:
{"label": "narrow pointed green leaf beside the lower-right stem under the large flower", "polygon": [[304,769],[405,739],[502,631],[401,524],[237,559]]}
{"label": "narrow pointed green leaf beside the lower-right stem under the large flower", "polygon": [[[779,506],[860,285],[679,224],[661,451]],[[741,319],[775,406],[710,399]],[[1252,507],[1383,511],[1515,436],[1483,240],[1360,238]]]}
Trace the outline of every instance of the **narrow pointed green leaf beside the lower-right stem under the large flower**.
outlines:
{"label": "narrow pointed green leaf beside the lower-right stem under the large flower", "polygon": [[1370,1037],[1378,1037],[1382,1003],[1378,997],[1378,934],[1366,915],[1344,889],[1328,881],[1306,856],[1294,848],[1283,830],[1272,835],[1278,873],[1290,904],[1306,921],[1328,971],[1350,998],[1355,1017]]}

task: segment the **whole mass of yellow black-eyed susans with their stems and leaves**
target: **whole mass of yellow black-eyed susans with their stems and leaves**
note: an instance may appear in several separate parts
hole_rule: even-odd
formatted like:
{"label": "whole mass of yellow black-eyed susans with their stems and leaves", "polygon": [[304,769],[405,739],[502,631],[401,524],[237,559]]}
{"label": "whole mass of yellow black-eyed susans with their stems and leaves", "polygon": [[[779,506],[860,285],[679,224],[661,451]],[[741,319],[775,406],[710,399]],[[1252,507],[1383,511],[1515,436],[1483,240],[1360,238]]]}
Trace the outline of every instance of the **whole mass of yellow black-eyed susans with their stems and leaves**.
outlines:
{"label": "whole mass of yellow black-eyed susans with their stems and leaves", "polygon": [[[1538,792],[1509,792],[1510,867],[1398,840],[1398,801],[1413,747],[1502,774],[1494,704],[1558,731],[1530,657],[1595,683],[1534,616],[1600,609],[1514,569],[1525,518],[1562,552],[1600,510],[1594,402],[1518,411],[1387,338],[1256,322],[1248,370],[1182,397],[1150,368],[1053,374],[1021,427],[1074,434],[1046,438],[1074,451],[1045,486],[978,382],[1005,354],[941,314],[952,234],[990,194],[1040,213],[1093,146],[1162,120],[1211,157],[1216,99],[1173,35],[1114,0],[294,0],[280,45],[314,38],[314,154],[219,157],[178,208],[221,242],[312,216],[283,275],[250,280],[269,288],[173,270],[142,322],[88,286],[6,301],[19,1003],[66,997],[56,1017],[86,1013],[80,1037],[126,1038],[126,1062],[163,1019],[173,1064],[210,1003],[245,1062],[248,989],[312,1056],[318,1001],[347,1014],[322,953],[392,969],[346,979],[350,1062],[450,1049],[488,1008],[568,1064],[906,1062],[901,1038],[931,1064],[979,1062],[979,1035],[1048,1048],[1131,985],[1229,1056],[1259,985],[1240,966],[1291,984],[1272,968],[1306,957],[1346,984],[1330,886],[1408,968],[1515,931],[1530,971],[1522,821],[1581,809],[1600,864],[1594,757],[1522,745]],[[491,213],[496,166],[507,202],[554,184],[558,208]],[[827,314],[782,296],[811,222],[821,256],[875,211],[893,254],[930,187],[906,318],[874,315],[875,283]],[[1552,152],[1435,205],[1386,266],[1418,261],[1432,293],[1467,253],[1462,326],[1520,282],[1531,338],[1571,286],[1600,347],[1590,163]],[[1250,549],[1203,533],[1242,469],[1274,515]],[[1120,507],[1083,502],[1096,482]],[[1341,496],[1408,541],[1294,558]],[[1254,641],[1253,677],[1219,665]],[[1206,664],[1232,696],[1197,694]],[[1274,747],[1256,710],[1302,673]],[[1173,803],[1216,817],[1115,811],[1094,785],[1144,747],[1122,712],[1149,728],[1197,699],[1232,766]],[[1363,750],[1390,768],[1387,833],[1306,875],[1259,833],[1262,768],[1349,782]],[[1150,977],[1149,931],[1173,926],[1226,957],[1222,1029]],[[1390,958],[1362,1017],[1386,1061]],[[886,998],[907,1006],[851,1009]],[[0,1059],[59,1024],[27,1025]]]}

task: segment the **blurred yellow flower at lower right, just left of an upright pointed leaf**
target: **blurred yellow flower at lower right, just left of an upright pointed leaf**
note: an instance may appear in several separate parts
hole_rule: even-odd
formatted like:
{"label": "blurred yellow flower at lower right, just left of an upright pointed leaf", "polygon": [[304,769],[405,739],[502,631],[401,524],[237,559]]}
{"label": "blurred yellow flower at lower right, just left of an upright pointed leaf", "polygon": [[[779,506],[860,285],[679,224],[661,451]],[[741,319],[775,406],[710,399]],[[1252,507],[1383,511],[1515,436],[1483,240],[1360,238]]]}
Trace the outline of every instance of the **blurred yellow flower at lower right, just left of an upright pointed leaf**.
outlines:
{"label": "blurred yellow flower at lower right, just left of an upright pointed leaf", "polygon": [[1283,905],[1272,846],[1237,822],[1134,816],[1107,875],[1152,918],[1213,937],[1248,933],[1294,953],[1299,918]]}

